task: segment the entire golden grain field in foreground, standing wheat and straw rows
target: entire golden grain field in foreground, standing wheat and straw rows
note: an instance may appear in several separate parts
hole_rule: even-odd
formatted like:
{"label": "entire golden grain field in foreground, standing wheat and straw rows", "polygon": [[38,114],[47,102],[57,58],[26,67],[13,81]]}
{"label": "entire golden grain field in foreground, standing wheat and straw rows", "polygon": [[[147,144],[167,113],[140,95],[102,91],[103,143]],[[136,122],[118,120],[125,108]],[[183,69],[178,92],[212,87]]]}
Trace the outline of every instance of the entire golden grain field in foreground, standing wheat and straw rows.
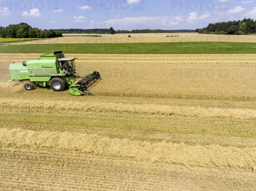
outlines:
{"label": "entire golden grain field in foreground, standing wheat and straw rows", "polygon": [[94,96],[6,83],[38,56],[0,54],[2,190],[255,190],[255,54],[67,54]]}

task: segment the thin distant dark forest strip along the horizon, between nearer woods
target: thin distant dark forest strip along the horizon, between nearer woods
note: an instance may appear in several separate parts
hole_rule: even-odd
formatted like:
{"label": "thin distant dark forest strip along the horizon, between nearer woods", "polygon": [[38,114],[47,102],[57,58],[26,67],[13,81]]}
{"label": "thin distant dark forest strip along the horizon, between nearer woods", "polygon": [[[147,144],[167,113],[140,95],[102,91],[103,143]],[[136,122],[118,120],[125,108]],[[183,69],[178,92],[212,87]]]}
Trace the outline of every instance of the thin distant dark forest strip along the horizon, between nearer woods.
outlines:
{"label": "thin distant dark forest strip along the horizon, between nearer woods", "polygon": [[[54,29],[61,31],[63,34],[110,34],[109,29]],[[137,29],[137,30],[116,30],[116,34],[123,33],[174,33],[174,32],[194,32],[195,30],[162,30],[162,29]]]}

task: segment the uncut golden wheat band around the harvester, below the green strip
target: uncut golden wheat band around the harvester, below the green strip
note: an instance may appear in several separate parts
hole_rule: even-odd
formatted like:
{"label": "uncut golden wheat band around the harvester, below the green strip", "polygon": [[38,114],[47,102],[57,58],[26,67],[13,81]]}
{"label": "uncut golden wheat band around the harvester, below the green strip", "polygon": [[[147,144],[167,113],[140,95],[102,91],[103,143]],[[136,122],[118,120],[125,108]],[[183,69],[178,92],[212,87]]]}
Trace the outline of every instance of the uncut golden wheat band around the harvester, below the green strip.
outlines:
{"label": "uncut golden wheat band around the harvester, below the green strip", "polygon": [[[79,75],[100,72],[105,80],[90,89],[98,95],[255,100],[255,54],[66,56],[79,57]],[[1,54],[1,69],[7,69],[9,63],[36,57],[38,54]],[[7,72],[4,80],[9,77]]]}

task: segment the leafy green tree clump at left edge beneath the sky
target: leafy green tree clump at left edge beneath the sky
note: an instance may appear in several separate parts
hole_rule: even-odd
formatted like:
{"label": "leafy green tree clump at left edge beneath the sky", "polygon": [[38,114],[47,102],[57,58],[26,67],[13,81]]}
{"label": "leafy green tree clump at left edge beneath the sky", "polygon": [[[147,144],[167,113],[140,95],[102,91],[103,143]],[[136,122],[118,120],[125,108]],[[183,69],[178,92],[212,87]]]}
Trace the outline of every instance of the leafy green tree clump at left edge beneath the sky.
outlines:
{"label": "leafy green tree clump at left edge beneath the sky", "polygon": [[0,37],[2,38],[54,38],[62,37],[61,31],[41,30],[32,28],[27,23],[13,24],[6,27],[0,26]]}

